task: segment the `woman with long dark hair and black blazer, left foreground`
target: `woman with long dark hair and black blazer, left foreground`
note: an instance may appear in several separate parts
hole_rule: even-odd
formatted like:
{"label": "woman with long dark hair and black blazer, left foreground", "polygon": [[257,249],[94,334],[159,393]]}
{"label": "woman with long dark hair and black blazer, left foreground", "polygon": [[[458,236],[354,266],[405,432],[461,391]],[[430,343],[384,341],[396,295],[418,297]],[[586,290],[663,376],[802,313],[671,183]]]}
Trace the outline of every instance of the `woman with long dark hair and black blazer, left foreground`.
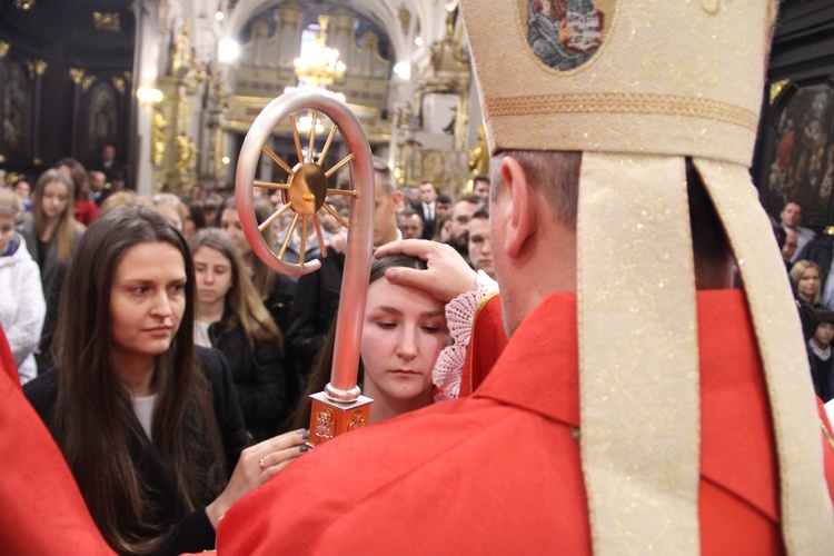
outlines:
{"label": "woman with long dark hair and black blazer, left foreground", "polygon": [[96,524],[121,554],[212,548],[226,509],[304,451],[302,431],[246,448],[228,364],[193,342],[188,246],[156,210],[97,219],[66,291],[58,368],[24,391]]}

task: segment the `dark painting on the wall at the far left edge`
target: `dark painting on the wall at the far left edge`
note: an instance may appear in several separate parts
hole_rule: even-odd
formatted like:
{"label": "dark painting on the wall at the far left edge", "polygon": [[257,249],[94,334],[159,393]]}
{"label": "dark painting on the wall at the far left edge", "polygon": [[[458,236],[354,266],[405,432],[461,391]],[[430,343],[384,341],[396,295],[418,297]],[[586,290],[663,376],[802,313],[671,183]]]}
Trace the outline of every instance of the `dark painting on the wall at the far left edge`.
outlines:
{"label": "dark painting on the wall at the far left edge", "polygon": [[24,158],[29,146],[30,81],[22,66],[12,60],[7,60],[3,73],[3,151],[11,155],[10,158]]}

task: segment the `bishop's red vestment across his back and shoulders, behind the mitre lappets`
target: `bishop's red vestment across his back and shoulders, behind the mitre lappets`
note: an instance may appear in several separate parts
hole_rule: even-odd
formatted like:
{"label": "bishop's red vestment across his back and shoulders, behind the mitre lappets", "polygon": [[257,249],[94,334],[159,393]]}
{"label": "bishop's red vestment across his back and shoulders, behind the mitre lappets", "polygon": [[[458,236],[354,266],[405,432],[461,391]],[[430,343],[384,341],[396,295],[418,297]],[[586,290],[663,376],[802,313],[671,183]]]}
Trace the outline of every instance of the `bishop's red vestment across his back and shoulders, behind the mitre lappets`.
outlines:
{"label": "bishop's red vestment across his back and shoulders, behind the mitre lappets", "polygon": [[[232,506],[219,554],[589,554],[576,335],[576,297],[549,296],[470,397],[299,458]],[[702,553],[780,554],[770,408],[739,290],[698,292],[698,338]]]}

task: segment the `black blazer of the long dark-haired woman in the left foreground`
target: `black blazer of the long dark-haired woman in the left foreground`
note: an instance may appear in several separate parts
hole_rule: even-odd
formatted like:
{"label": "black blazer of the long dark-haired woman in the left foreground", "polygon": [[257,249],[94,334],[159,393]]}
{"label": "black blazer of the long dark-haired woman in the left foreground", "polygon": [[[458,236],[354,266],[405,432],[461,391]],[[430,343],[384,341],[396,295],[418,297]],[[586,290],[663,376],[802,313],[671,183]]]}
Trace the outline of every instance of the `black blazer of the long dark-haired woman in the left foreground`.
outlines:
{"label": "black blazer of the long dark-haired woman in the left foreground", "polygon": [[[226,358],[216,349],[201,347],[197,349],[202,370],[211,385],[215,415],[217,416],[226,454],[226,469],[230,476],[240,453],[250,444],[244,427],[244,415],[240,411],[231,371]],[[40,375],[27,383],[23,388],[23,393],[47,424],[50,433],[52,433],[50,427],[51,414],[58,398],[57,373],[50,370]],[[173,476],[150,439],[147,439],[142,448],[136,450],[136,454],[141,454],[142,457],[141,461],[137,461],[137,466],[143,469],[142,476],[151,487],[151,502],[160,508],[167,520],[171,524],[176,523],[171,536],[157,554],[178,555],[214,549],[215,528],[206,515],[206,508],[201,507],[186,515]],[[202,504],[207,505],[211,502],[202,500]]]}

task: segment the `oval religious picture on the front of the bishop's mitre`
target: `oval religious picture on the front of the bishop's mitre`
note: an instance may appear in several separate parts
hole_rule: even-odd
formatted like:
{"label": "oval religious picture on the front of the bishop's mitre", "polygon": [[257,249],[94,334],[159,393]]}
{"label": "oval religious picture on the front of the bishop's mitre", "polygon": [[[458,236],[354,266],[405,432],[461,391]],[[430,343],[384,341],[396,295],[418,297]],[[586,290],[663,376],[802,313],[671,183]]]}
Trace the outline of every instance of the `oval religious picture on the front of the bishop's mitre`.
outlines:
{"label": "oval religious picture on the front of the bishop's mitre", "polygon": [[546,66],[567,71],[602,46],[614,0],[526,0],[527,42]]}

